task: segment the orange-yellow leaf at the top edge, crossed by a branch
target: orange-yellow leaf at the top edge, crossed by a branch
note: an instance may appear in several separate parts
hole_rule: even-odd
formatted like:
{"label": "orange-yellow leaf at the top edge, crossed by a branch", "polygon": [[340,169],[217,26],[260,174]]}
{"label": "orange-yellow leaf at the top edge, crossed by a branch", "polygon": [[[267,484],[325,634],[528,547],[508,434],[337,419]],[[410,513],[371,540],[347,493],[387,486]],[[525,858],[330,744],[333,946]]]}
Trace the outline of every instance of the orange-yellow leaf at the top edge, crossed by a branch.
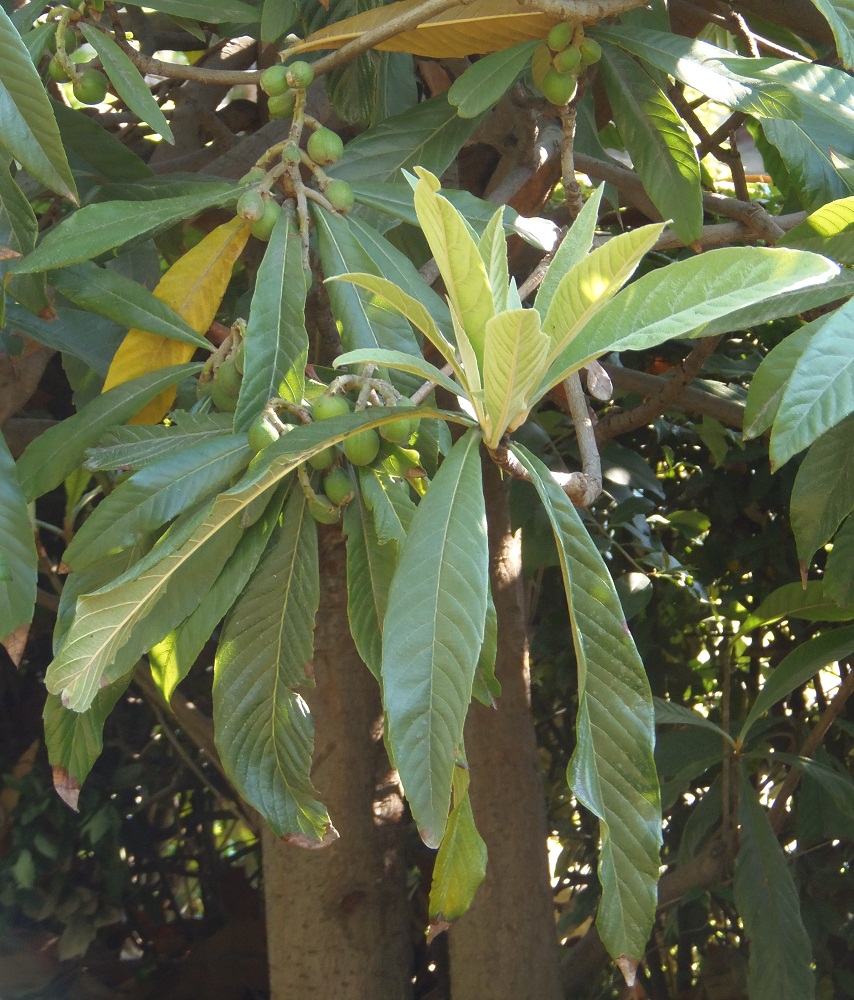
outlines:
{"label": "orange-yellow leaf at the top edge, crossed by a branch", "polygon": [[[338,49],[346,42],[388,22],[389,18],[414,10],[423,0],[400,0],[345,18],[328,28],[315,31],[287,49],[287,57],[315,49]],[[560,18],[520,8],[517,0],[474,0],[451,7],[429,18],[417,28],[380,42],[377,49],[410,52],[436,59],[482,55],[509,49],[519,42],[545,38]]]}

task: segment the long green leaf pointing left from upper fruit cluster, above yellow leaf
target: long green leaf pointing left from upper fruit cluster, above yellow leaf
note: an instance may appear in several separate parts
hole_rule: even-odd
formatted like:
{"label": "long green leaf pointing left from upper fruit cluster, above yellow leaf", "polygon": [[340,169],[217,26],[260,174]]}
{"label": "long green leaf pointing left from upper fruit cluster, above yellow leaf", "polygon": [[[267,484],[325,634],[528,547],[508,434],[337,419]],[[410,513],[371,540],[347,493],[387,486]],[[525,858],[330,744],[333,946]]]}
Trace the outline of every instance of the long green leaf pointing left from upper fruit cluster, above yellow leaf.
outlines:
{"label": "long green leaf pointing left from upper fruit cluster, above yellow leaf", "polygon": [[195,194],[163,198],[144,208],[135,201],[86,205],[51,229],[36,249],[10,270],[29,274],[91,260],[139,236],[155,236],[203,209],[234,204],[241,191],[234,184],[217,181],[200,185]]}

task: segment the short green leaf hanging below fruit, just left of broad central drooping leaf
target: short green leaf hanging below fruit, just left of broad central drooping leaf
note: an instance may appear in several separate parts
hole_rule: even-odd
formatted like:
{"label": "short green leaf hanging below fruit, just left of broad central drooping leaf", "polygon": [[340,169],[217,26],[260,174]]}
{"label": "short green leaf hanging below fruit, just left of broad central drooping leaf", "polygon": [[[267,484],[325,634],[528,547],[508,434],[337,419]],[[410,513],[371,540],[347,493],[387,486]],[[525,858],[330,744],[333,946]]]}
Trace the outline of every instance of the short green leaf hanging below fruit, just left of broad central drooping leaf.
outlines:
{"label": "short green leaf hanging below fruit, just left of broad central drooping leaf", "polygon": [[360,490],[344,512],[344,533],[350,632],[359,656],[379,680],[383,621],[400,546],[396,541],[380,541],[374,516]]}

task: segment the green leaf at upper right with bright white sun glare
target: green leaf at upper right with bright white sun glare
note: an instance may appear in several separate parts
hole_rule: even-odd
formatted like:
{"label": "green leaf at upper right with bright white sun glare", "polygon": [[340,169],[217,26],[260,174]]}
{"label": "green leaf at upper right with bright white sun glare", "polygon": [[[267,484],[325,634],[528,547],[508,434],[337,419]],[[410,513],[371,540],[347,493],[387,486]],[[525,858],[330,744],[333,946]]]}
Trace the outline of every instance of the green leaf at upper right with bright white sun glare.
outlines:
{"label": "green leaf at upper right with bright white sun glare", "polygon": [[590,34],[619,45],[725,107],[760,118],[796,118],[800,113],[798,98],[784,82],[763,81],[751,73],[756,60],[744,60],[743,73],[730,68],[723,61],[732,55],[728,49],[637,25],[600,26]]}

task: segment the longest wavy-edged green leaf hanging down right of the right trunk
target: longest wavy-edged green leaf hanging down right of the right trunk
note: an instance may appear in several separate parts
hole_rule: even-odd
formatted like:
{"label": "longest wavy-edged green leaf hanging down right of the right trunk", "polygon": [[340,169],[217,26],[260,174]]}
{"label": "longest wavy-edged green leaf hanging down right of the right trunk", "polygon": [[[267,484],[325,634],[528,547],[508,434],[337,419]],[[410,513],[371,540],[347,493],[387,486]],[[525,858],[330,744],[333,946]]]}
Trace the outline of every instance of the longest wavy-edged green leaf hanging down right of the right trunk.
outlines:
{"label": "longest wavy-edged green leaf hanging down right of the right trunk", "polygon": [[552,523],[578,661],[578,742],[568,780],[600,821],[596,926],[614,958],[643,956],[658,901],[661,801],[649,682],[611,576],[572,503],[518,445]]}

